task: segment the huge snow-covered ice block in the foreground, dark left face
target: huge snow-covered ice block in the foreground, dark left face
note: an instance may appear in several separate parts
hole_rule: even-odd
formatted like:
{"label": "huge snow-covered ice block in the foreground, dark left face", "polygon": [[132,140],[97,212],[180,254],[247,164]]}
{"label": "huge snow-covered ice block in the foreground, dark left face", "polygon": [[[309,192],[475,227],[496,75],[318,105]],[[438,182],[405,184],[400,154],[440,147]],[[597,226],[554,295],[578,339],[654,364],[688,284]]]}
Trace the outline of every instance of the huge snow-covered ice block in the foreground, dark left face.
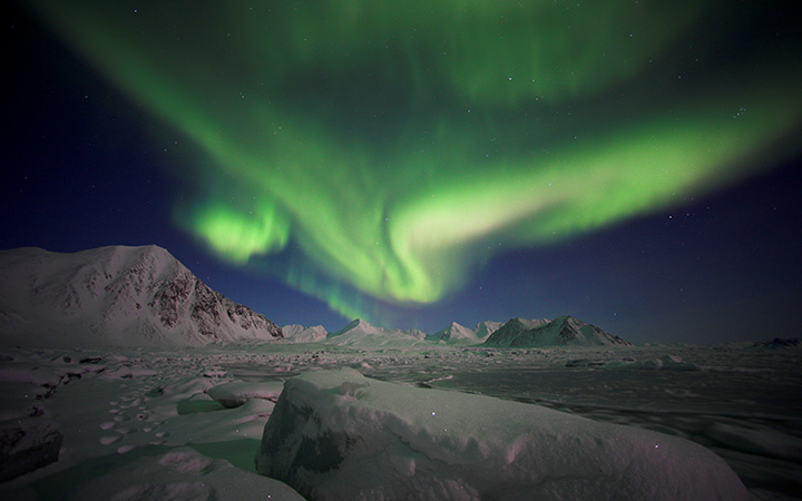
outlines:
{"label": "huge snow-covered ice block in the foreground, dark left face", "polygon": [[349,369],[285,383],[256,468],[313,500],[747,499],[684,439]]}

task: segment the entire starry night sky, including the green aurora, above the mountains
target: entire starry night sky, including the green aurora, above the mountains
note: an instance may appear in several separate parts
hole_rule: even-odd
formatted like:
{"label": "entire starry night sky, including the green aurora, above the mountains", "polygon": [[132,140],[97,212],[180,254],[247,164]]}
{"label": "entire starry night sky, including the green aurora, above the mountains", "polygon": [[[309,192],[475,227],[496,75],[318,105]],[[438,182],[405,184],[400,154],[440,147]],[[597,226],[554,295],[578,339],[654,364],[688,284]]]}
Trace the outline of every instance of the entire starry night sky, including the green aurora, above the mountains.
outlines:
{"label": "entire starry night sky, including the green aurora, above the mountains", "polygon": [[6,2],[0,247],[157,244],[278,324],[796,336],[788,2]]}

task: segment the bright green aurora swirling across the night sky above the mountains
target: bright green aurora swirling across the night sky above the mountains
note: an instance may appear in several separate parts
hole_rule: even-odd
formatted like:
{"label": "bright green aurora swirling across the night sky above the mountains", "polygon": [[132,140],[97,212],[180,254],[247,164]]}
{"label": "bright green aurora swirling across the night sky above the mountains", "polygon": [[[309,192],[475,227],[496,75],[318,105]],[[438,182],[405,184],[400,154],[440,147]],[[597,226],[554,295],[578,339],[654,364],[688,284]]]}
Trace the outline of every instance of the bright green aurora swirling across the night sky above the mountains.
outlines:
{"label": "bright green aurora swirling across the night sky above the mountains", "polygon": [[782,2],[33,3],[192,143],[176,223],[348,317],[799,147]]}

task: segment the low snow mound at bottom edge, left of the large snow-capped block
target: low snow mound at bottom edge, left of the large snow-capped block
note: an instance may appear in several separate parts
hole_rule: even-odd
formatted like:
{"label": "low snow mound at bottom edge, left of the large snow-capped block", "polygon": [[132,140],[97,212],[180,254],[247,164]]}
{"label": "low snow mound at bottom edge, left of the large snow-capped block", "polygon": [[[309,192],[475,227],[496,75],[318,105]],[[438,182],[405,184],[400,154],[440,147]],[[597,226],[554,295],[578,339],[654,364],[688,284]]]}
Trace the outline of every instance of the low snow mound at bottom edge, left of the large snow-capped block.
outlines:
{"label": "low snow mound at bottom edge, left of the large snow-capped block", "polygon": [[248,473],[189,448],[131,461],[78,487],[67,499],[303,501],[283,482]]}

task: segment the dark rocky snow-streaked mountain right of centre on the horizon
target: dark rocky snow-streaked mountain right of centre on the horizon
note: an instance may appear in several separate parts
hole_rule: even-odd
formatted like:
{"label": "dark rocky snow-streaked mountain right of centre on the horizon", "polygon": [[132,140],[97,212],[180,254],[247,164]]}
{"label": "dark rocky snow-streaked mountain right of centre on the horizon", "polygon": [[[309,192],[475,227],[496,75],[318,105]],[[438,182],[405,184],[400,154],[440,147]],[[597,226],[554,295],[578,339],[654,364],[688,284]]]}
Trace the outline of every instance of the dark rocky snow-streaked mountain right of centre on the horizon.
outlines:
{"label": "dark rocky snow-streaked mountain right of centre on the horizon", "polygon": [[487,346],[606,346],[632,345],[595,325],[573,316],[560,316],[551,322],[512,318],[492,333]]}

